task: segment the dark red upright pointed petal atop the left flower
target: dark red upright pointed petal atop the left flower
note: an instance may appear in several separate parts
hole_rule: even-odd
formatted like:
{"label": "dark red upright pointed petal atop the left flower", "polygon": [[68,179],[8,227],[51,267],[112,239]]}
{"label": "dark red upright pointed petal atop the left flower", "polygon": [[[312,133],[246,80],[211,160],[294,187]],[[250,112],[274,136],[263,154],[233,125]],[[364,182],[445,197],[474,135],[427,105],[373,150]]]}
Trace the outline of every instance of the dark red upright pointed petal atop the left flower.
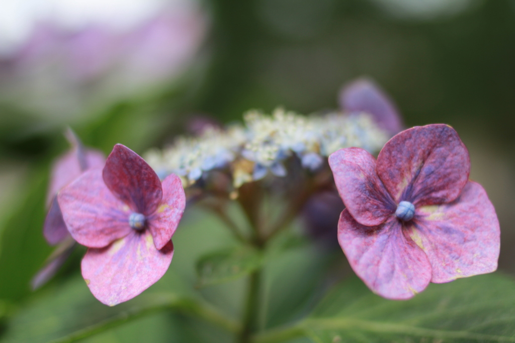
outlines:
{"label": "dark red upright pointed petal atop the left flower", "polygon": [[156,172],[137,153],[116,144],[104,167],[104,182],[118,199],[144,215],[158,208],[163,198]]}

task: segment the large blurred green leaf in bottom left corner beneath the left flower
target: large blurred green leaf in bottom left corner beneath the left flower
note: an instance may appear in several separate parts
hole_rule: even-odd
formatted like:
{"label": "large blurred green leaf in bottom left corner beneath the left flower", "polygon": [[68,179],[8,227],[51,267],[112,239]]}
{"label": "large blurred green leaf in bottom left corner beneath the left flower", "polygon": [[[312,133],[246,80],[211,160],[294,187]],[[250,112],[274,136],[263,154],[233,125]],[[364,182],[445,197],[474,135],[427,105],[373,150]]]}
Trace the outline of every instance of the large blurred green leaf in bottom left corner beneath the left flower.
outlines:
{"label": "large blurred green leaf in bottom left corner beneath the left flower", "polygon": [[[106,330],[118,327],[127,321],[139,320],[143,316],[174,308],[187,314],[195,314],[201,318],[218,322],[222,326],[226,325],[229,330],[237,330],[236,324],[220,317],[211,307],[206,306],[195,297],[193,292],[182,284],[177,273],[170,269],[158,283],[142,295],[113,307],[96,300],[82,278],[77,276],[59,287],[48,289],[46,293],[40,293],[39,297],[20,310],[8,322],[2,341],[32,343],[55,340],[68,342],[100,332],[105,336],[105,340],[101,339],[100,341],[113,341],[113,339],[106,338],[109,337],[104,334]],[[173,322],[173,320],[170,321]],[[166,320],[161,319],[161,322],[166,322]],[[159,329],[155,329],[159,330],[160,334],[166,333],[167,330],[162,330],[166,324],[160,326]],[[174,327],[174,324],[171,326]],[[177,325],[175,326],[177,327]],[[125,327],[129,331],[132,330],[132,323]],[[118,334],[127,336],[127,332],[124,330],[119,328],[115,330],[118,331]],[[142,341],[136,337],[137,335],[133,336],[130,341]],[[183,340],[179,336],[177,341]]]}

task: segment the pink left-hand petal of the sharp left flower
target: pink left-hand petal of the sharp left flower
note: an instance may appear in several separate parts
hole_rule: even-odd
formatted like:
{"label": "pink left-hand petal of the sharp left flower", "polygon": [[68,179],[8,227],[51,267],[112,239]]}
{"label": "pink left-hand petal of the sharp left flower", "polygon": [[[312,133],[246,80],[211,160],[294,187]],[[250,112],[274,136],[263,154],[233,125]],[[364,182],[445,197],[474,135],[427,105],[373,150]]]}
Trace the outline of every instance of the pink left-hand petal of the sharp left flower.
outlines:
{"label": "pink left-hand petal of the sharp left flower", "polygon": [[131,211],[107,188],[102,169],[86,171],[64,187],[57,200],[68,231],[82,245],[102,248],[132,231]]}

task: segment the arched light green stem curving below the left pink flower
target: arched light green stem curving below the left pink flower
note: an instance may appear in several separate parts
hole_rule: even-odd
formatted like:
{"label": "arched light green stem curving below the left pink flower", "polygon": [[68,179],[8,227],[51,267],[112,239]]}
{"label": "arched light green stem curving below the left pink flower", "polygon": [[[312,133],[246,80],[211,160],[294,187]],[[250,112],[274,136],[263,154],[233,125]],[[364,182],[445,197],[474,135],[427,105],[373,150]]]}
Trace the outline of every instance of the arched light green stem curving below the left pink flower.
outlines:
{"label": "arched light green stem curving below the left pink flower", "polygon": [[[153,299],[155,298],[155,299]],[[148,314],[158,313],[166,310],[179,310],[185,314],[195,315],[206,321],[233,333],[241,331],[240,325],[216,312],[208,305],[200,304],[192,299],[179,299],[170,295],[152,295],[152,298],[145,303],[147,306],[135,306],[127,311],[121,312],[109,319],[91,325],[82,330],[75,331],[64,337],[55,339],[52,343],[71,343],[84,338],[91,337],[108,329],[144,317]]]}

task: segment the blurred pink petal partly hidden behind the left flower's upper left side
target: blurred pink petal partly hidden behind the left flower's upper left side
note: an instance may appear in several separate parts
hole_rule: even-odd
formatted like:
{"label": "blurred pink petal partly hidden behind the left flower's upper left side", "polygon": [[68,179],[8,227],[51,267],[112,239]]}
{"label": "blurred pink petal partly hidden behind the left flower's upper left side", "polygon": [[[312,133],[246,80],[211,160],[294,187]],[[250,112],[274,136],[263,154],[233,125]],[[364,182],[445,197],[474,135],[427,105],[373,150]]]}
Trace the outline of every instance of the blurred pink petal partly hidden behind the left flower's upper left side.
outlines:
{"label": "blurred pink petal partly hidden behind the left flower's upper left side", "polygon": [[[67,152],[64,156],[54,162],[50,173],[50,186],[48,187],[47,206],[50,205],[54,196],[68,183],[75,180],[82,172],[84,159],[86,169],[101,168],[106,162],[104,154],[98,150],[82,150],[77,147]],[[82,160],[82,161],[81,161]]]}

